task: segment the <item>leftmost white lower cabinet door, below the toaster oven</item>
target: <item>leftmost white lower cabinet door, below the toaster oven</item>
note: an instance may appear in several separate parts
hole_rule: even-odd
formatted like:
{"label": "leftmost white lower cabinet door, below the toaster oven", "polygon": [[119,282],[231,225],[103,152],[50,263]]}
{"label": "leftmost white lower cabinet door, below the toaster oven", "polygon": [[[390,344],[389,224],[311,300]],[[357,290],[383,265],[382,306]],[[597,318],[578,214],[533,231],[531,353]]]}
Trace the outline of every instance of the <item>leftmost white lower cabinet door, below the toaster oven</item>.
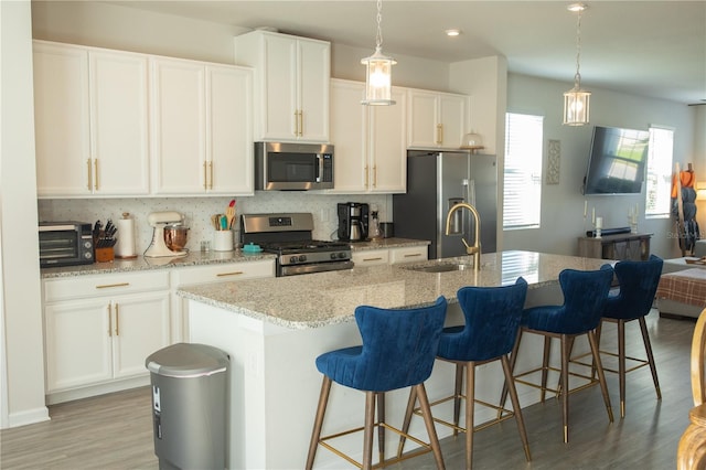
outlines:
{"label": "leftmost white lower cabinet door, below the toaster oven", "polygon": [[45,306],[46,392],[113,377],[108,306],[105,298]]}

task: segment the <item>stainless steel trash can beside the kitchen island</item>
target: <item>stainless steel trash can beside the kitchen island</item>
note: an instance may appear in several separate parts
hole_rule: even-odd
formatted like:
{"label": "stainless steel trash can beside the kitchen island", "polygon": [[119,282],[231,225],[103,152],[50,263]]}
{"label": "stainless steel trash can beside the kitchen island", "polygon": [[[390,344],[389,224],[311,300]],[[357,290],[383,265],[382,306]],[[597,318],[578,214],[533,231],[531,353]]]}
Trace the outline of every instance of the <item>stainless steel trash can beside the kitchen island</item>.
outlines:
{"label": "stainless steel trash can beside the kitchen island", "polygon": [[147,357],[152,384],[154,453],[160,469],[226,466],[228,355],[176,343]]}

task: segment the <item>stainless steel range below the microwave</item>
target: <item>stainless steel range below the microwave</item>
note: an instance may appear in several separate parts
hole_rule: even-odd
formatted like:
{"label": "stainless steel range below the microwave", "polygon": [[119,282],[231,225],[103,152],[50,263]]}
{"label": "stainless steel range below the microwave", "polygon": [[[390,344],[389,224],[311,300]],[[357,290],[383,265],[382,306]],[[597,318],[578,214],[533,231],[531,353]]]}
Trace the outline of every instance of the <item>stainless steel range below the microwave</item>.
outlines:
{"label": "stainless steel range below the microwave", "polygon": [[351,269],[351,246],[312,239],[310,213],[243,214],[240,243],[277,254],[277,276]]}

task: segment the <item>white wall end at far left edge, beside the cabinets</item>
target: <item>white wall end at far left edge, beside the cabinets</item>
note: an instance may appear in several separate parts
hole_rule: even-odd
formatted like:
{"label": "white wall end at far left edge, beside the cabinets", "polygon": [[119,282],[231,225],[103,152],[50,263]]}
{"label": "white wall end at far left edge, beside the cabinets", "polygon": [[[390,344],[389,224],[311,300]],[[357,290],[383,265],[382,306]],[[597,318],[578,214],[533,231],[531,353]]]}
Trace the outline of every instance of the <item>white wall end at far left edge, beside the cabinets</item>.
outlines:
{"label": "white wall end at far left edge, beside the cabinets", "polygon": [[0,2],[0,391],[3,427],[49,419],[36,236],[30,3]]}

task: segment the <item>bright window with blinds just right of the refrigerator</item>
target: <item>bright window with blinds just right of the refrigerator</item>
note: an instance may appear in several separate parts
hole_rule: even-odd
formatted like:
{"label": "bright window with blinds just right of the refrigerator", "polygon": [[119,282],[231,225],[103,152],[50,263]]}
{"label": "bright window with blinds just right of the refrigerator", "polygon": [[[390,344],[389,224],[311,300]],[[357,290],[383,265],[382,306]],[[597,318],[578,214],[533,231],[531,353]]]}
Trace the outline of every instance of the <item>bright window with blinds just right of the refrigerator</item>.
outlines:
{"label": "bright window with blinds just right of the refrigerator", "polygon": [[504,229],[539,226],[543,126],[543,116],[505,115]]}

